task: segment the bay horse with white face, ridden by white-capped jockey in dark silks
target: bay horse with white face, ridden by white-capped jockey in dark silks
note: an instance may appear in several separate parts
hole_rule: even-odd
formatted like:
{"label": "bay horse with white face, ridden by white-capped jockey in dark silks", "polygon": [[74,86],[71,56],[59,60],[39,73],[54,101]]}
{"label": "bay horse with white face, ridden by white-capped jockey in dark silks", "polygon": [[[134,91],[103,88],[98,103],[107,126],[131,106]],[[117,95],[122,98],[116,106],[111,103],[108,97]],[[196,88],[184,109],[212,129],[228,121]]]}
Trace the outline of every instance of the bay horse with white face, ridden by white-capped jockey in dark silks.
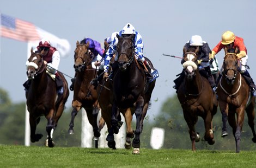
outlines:
{"label": "bay horse with white face, ridden by white-capped jockey in dark silks", "polygon": [[200,140],[199,134],[196,132],[198,116],[204,120],[204,139],[210,145],[215,143],[212,118],[216,114],[218,107],[218,101],[216,95],[212,92],[210,83],[199,73],[198,51],[198,47],[184,49],[185,62],[182,66],[185,72],[185,79],[177,91],[184,118],[189,128],[192,151],[196,151],[196,142]]}

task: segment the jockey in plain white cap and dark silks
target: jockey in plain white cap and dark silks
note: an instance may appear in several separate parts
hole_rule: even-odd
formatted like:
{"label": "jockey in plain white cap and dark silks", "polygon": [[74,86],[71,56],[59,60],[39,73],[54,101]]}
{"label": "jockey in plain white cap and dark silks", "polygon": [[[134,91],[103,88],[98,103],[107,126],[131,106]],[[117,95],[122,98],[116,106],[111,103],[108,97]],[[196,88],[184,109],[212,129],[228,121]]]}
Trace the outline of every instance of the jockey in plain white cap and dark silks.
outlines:
{"label": "jockey in plain white cap and dark silks", "polygon": [[[211,49],[208,43],[203,41],[201,36],[194,35],[191,37],[190,41],[187,41],[184,48],[185,50],[187,50],[189,47],[197,47],[197,46],[199,46],[198,63],[200,64],[200,67],[204,68],[205,71],[207,72],[208,81],[211,85],[211,88],[215,88],[216,83],[214,80],[214,76],[211,73],[210,61],[209,61],[209,55],[210,55]],[[184,54],[185,53],[183,53],[183,55]],[[184,59],[181,60],[181,64],[182,63],[184,63]],[[185,75],[184,71],[182,71],[180,76],[174,80],[175,86],[173,88],[178,90],[180,84],[182,83],[182,80],[184,79],[184,75]]]}

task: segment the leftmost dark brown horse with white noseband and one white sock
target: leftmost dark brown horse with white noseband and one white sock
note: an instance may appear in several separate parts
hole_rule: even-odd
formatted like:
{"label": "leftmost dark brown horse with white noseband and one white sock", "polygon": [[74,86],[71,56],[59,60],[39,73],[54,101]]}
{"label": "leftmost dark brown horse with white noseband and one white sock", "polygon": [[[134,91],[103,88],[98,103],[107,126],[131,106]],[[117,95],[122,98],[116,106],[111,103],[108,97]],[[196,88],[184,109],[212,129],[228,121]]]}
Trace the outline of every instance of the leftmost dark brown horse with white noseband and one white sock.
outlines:
{"label": "leftmost dark brown horse with white noseband and one white sock", "polygon": [[32,82],[28,92],[26,92],[26,98],[31,126],[31,142],[34,143],[42,138],[42,134],[35,134],[35,131],[40,117],[44,115],[47,119],[46,131],[48,133],[46,145],[54,147],[52,134],[57,127],[69,96],[68,83],[62,73],[58,72],[59,77],[63,80],[64,92],[57,94],[56,84],[52,77],[47,74],[42,56],[39,53],[33,53],[33,49],[31,49],[28,62],[27,76]]}

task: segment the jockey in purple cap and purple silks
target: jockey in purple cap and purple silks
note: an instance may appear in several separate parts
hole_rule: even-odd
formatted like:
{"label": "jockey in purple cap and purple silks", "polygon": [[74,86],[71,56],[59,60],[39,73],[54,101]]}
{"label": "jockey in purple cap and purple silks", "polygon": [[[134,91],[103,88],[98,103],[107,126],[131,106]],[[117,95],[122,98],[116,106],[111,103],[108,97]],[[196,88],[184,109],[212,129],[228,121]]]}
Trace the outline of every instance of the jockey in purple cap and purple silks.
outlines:
{"label": "jockey in purple cap and purple silks", "polygon": [[[84,38],[84,43],[88,43],[89,42],[89,51],[90,53],[93,53],[94,58],[92,60],[92,66],[93,68],[96,69],[97,64],[99,64],[100,62],[102,62],[104,60],[103,54],[105,52],[104,49],[101,48],[101,45],[99,42],[97,42],[96,40],[93,40],[92,38]],[[98,72],[99,74],[99,72]],[[76,77],[76,74],[75,74]],[[70,91],[74,91],[74,82],[75,82],[75,77],[73,79],[71,79],[71,85],[69,87]]]}

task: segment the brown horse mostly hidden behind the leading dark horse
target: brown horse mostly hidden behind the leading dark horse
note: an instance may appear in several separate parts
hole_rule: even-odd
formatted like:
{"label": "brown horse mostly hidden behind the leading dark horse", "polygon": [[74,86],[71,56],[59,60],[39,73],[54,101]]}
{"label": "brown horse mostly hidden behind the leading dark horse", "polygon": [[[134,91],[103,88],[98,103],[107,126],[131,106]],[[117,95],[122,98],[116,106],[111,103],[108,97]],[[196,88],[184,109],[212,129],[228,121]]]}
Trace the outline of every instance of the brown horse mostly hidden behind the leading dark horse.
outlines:
{"label": "brown horse mostly hidden behind the leading dark horse", "polygon": [[[105,41],[105,52],[108,49],[108,43]],[[114,57],[111,60],[111,64],[114,63]],[[101,107],[101,115],[102,118],[105,120],[108,130],[111,128],[111,113],[112,113],[112,102],[113,102],[113,89],[112,89],[112,81],[111,80],[101,80],[100,85],[97,87],[97,93],[99,98],[99,105]],[[126,140],[125,140],[125,148],[130,149],[131,148],[131,138],[134,137],[134,133],[131,127],[132,122],[132,114],[131,109],[128,108],[126,111],[119,110],[120,113],[124,115],[125,122],[126,122]],[[119,128],[122,124],[121,117],[118,117],[119,121]],[[114,134],[109,133],[107,135],[107,141],[108,141],[108,147],[115,149],[115,141],[114,141]]]}

